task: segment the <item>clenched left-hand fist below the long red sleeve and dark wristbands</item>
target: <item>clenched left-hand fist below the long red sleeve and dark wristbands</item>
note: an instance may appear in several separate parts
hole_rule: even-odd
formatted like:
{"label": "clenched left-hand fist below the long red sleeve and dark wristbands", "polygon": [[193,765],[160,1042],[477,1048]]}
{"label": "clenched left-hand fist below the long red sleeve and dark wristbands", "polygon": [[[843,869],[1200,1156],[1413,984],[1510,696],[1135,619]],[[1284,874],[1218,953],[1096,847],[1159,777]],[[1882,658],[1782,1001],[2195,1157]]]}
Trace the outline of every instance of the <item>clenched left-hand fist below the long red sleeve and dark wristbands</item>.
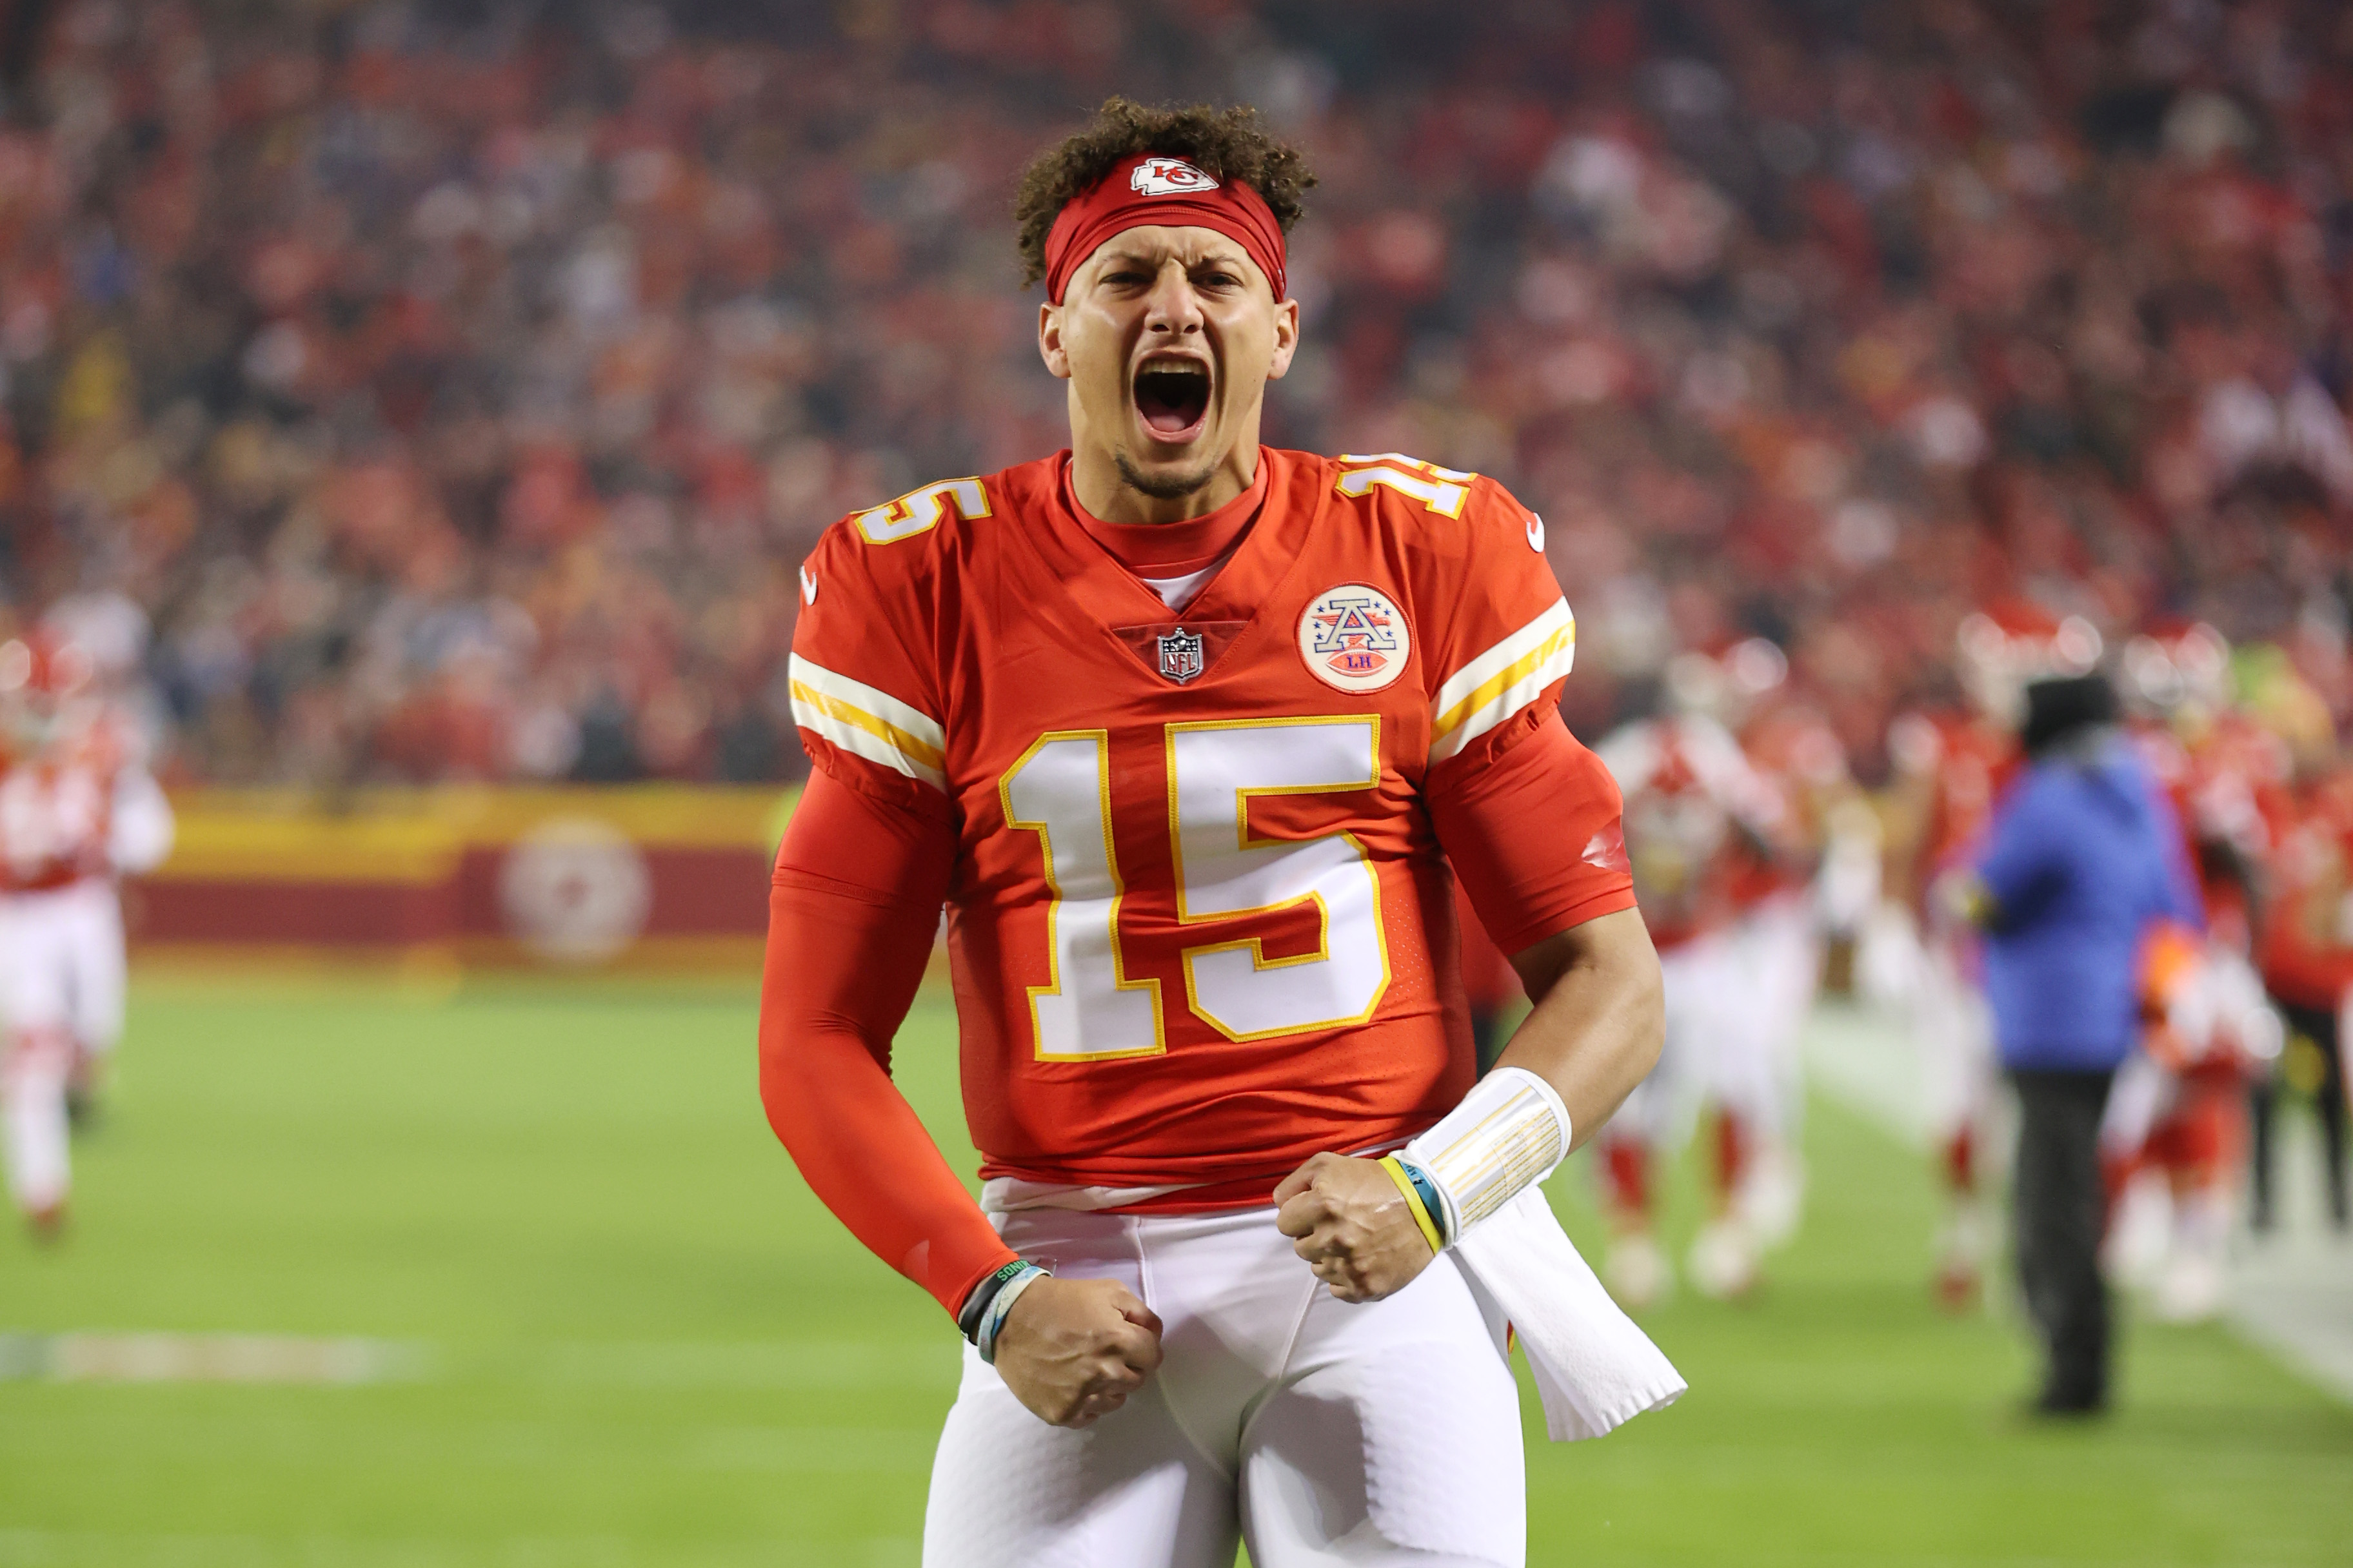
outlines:
{"label": "clenched left-hand fist below the long red sleeve and dark wristbands", "polygon": [[1047,1276],[998,1328],[998,1378],[1049,1427],[1092,1427],[1160,1366],[1160,1316],[1115,1279]]}

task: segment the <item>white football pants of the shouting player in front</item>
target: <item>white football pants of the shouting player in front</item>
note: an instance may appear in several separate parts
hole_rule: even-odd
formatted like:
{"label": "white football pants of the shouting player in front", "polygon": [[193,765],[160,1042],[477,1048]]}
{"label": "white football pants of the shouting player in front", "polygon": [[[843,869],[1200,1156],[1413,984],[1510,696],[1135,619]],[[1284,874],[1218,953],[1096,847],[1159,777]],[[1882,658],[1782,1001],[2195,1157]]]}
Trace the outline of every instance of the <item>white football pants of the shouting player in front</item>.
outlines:
{"label": "white football pants of the shouting player in front", "polygon": [[965,1349],[925,1568],[1259,1568],[1527,1561],[1504,1321],[1452,1255],[1337,1300],[1273,1208],[998,1215],[1024,1258],[1118,1279],[1165,1324],[1160,1371],[1085,1432],[1031,1415]]}

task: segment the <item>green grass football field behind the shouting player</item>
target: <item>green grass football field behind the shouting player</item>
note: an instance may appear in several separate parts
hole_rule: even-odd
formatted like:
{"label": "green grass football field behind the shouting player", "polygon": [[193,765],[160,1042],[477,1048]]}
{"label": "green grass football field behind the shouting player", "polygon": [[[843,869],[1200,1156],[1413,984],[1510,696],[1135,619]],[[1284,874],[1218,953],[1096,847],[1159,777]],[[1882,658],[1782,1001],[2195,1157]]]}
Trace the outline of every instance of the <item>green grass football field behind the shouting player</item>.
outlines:
{"label": "green grass football field behind the shouting player", "polygon": [[[71,1239],[0,1234],[0,1566],[915,1563],[958,1340],[772,1143],[748,987],[153,980],[125,1053]],[[944,1004],[899,1063],[969,1168]],[[1532,1446],[1532,1561],[2353,1563],[2353,1410],[2134,1326],[2111,1422],[2021,1422],[1918,1161],[1809,1159],[1769,1288],[1649,1319],[1682,1403]]]}

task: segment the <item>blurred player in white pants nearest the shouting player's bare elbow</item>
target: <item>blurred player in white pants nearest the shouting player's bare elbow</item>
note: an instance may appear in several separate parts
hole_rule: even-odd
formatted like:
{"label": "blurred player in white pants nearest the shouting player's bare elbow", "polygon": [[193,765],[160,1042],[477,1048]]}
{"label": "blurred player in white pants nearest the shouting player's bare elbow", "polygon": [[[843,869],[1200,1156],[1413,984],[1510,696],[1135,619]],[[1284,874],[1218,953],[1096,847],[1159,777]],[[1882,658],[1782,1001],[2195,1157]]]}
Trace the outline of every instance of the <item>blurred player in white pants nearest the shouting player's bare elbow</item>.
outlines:
{"label": "blurred player in white pants nearest the shouting player's bare elbow", "polygon": [[[1755,691],[1777,684],[1772,661],[1718,663],[1678,654],[1664,708],[1612,731],[1595,755],[1626,799],[1626,856],[1635,898],[1659,950],[1666,1046],[1659,1065],[1602,1128],[1602,1199],[1609,1211],[1605,1279],[1628,1307],[1673,1288],[1657,1244],[1657,1164],[1713,1112],[1711,1218],[1689,1253],[1694,1288],[1739,1295],[1755,1284],[1760,1239],[1741,1213],[1741,1182],[1760,1138],[1779,1133],[1784,1086],[1772,1060],[1758,952],[1741,922],[1774,891],[1788,811],[1725,726]],[[1802,959],[1800,959],[1802,964]]]}

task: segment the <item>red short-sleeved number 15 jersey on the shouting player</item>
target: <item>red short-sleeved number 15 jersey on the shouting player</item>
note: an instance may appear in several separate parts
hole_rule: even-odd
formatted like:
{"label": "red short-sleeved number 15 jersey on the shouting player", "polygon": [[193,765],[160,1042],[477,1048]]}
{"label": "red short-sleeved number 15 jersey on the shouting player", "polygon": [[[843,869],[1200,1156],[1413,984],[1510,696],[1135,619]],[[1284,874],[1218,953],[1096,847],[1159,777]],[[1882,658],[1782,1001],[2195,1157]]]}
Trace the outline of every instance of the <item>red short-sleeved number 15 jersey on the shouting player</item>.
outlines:
{"label": "red short-sleeved number 15 jersey on the shouting player", "polygon": [[[1468,473],[1264,449],[1257,522],[1179,616],[1071,515],[1066,463],[842,520],[793,639],[816,766],[958,827],[984,1173],[1266,1180],[1431,1126],[1473,1053],[1426,785],[1569,672],[1541,522]],[[1602,835],[1577,755],[1558,809]],[[1581,917],[1631,905],[1588,870]]]}

